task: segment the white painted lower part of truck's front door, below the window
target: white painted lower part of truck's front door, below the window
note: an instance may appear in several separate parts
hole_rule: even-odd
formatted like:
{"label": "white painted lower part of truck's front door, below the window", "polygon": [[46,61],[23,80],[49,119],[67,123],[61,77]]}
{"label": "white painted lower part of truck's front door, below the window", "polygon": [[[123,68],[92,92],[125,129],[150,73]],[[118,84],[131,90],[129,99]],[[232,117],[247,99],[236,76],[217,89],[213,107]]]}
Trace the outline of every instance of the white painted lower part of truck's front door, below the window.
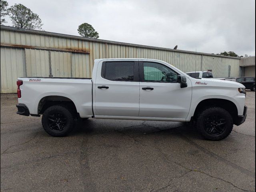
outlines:
{"label": "white painted lower part of truck's front door, below the window", "polygon": [[[142,90],[142,87],[154,90]],[[192,95],[191,83],[140,82],[140,117],[182,118],[188,116]]]}

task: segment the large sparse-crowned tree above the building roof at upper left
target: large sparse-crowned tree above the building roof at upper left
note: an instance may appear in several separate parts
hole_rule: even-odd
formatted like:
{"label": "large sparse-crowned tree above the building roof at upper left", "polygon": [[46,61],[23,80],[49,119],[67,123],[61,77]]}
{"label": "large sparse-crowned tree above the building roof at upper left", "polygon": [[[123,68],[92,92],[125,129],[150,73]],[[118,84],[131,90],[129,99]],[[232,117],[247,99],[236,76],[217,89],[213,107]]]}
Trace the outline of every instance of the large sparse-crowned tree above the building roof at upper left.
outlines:
{"label": "large sparse-crowned tree above the building roof at upper left", "polygon": [[25,29],[42,29],[39,16],[22,4],[15,4],[9,9],[10,18],[14,27]]}

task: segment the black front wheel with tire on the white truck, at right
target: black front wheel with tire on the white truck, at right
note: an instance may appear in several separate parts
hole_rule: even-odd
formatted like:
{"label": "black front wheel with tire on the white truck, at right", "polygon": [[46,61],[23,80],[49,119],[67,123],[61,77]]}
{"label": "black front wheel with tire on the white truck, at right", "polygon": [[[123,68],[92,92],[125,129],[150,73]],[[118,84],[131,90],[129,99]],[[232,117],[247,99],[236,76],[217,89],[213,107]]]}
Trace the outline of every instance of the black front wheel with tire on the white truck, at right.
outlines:
{"label": "black front wheel with tire on the white truck, at right", "polygon": [[203,110],[197,119],[198,131],[208,140],[222,140],[233,129],[233,118],[228,111],[220,107]]}

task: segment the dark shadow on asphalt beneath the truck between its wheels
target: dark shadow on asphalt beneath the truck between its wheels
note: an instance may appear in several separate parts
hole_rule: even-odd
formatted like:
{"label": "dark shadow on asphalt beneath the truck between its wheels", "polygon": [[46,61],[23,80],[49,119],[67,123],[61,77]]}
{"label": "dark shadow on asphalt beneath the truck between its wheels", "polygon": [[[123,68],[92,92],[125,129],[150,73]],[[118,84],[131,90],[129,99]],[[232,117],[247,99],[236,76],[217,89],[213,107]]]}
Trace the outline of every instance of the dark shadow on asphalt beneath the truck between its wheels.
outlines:
{"label": "dark shadow on asphalt beneath the truck between its wheels", "polygon": [[170,135],[202,139],[196,128],[185,122],[88,119],[78,122],[70,136],[123,134],[131,138],[146,135]]}

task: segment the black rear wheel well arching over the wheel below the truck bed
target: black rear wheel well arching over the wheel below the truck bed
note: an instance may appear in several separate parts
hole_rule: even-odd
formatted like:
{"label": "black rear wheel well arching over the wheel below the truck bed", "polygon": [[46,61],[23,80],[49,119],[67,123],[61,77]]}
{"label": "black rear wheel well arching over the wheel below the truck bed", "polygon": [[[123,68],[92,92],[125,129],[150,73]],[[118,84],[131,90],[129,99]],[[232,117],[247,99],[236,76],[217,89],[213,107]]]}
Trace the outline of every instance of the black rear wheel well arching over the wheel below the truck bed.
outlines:
{"label": "black rear wheel well arching over the wheel below the truck bed", "polygon": [[74,102],[64,96],[46,96],[42,98],[38,104],[38,114],[43,114],[44,111],[53,105],[60,105],[67,107],[72,113],[77,114]]}

